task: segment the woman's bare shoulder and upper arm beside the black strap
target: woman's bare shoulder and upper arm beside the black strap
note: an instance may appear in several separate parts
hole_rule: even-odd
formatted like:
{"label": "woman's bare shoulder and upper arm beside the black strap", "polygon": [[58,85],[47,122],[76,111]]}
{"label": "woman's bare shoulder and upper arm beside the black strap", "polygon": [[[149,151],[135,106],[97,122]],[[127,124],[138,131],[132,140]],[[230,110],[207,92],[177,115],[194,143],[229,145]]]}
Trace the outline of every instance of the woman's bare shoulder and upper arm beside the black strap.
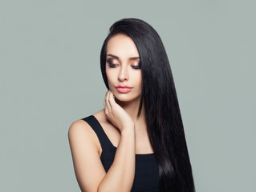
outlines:
{"label": "woman's bare shoulder and upper arm beside the black strap", "polygon": [[80,189],[96,191],[106,174],[100,160],[97,135],[87,122],[79,119],[71,123],[68,138]]}

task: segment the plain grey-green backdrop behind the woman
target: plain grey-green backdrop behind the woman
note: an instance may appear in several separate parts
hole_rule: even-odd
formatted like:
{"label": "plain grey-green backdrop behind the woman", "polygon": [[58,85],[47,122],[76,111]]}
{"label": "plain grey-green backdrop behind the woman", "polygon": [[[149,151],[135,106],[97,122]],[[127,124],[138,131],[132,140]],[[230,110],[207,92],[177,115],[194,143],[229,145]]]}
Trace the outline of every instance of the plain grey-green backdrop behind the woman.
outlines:
{"label": "plain grey-green backdrop behind the woman", "polygon": [[1,1],[0,191],[79,191],[67,130],[103,108],[100,48],[141,18],[167,50],[197,191],[256,182],[254,1]]}

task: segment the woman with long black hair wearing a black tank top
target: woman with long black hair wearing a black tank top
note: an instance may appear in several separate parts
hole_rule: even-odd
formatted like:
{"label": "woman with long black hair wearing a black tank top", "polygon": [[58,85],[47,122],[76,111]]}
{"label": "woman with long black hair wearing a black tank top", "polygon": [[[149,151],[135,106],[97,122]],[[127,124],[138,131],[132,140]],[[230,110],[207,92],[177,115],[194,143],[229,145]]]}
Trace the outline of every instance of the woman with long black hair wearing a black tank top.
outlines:
{"label": "woman with long black hair wearing a black tank top", "polygon": [[173,74],[148,23],[114,23],[100,54],[104,110],[73,122],[82,191],[194,191]]}

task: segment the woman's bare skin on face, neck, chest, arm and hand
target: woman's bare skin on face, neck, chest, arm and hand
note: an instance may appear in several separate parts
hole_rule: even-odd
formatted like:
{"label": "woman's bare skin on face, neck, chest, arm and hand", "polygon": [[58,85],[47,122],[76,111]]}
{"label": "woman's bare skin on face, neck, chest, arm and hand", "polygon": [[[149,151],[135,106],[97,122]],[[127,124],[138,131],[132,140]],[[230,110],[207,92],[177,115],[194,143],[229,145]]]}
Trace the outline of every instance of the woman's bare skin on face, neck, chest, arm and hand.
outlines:
{"label": "woman's bare skin on face, neck, chest, arm and hand", "polygon": [[[100,161],[100,141],[94,130],[83,120],[71,124],[68,138],[75,175],[82,191],[130,191],[135,175],[136,154],[153,153],[146,130],[144,108],[140,118],[136,119],[142,82],[141,70],[134,69],[134,66],[140,65],[136,45],[132,38],[117,34],[108,41],[107,55],[109,90],[104,98],[104,109],[93,115],[117,147],[116,155],[106,173]],[[121,94],[116,90],[118,85],[131,86],[132,90]]]}

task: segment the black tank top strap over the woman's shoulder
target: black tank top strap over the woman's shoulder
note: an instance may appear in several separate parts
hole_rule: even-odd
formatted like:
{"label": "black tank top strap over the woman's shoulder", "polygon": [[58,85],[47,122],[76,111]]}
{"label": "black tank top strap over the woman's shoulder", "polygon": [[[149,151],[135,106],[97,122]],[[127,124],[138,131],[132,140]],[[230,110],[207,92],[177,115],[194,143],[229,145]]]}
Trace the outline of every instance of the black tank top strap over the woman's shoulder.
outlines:
{"label": "black tank top strap over the woman's shoulder", "polygon": [[112,142],[110,142],[107,134],[104,132],[104,129],[100,125],[100,122],[93,115],[90,115],[86,118],[81,118],[81,120],[87,122],[91,126],[91,129],[94,130],[95,134],[100,140],[101,149],[104,152],[115,150],[115,147],[112,145]]}

